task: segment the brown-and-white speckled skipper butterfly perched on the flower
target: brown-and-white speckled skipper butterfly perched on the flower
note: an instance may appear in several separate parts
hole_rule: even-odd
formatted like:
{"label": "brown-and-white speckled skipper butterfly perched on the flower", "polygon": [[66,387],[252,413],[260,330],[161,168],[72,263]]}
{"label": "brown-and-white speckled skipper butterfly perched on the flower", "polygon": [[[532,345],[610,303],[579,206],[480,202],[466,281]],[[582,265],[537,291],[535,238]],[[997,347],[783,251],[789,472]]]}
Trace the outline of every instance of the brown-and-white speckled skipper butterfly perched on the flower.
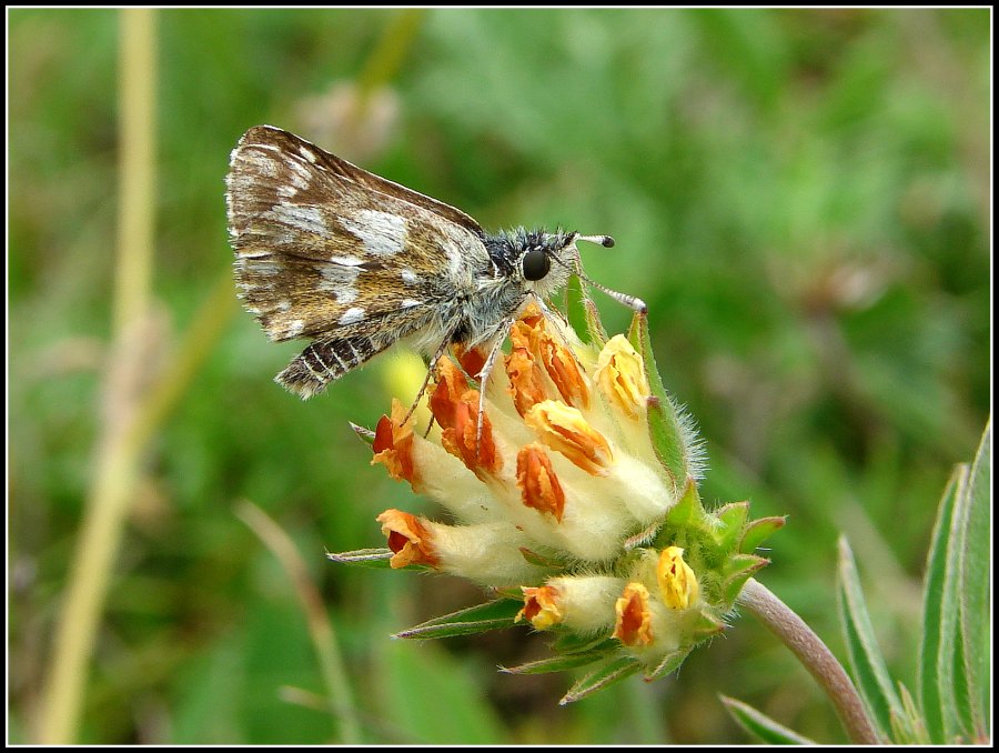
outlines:
{"label": "brown-and-white speckled skipper butterfly perched on the flower", "polygon": [[490,349],[485,383],[524,307],[548,312],[572,273],[646,311],[583,274],[576,241],[610,248],[609,235],[486,233],[461,210],[271,126],[243,134],[225,182],[243,305],[271,340],[312,339],[275,378],[303,399],[401,340],[431,357],[421,395],[452,344]]}

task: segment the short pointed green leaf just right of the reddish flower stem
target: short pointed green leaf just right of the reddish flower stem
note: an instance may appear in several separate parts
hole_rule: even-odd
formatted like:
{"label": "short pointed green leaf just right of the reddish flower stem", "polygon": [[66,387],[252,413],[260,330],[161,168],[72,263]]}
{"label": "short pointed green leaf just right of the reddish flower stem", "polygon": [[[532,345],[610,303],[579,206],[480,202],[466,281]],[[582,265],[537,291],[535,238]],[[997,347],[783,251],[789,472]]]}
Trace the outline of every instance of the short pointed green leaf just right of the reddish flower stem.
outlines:
{"label": "short pointed green leaf just right of the reddish flower stem", "polygon": [[892,715],[904,716],[902,704],[878,647],[860,589],[860,579],[857,576],[857,564],[846,536],[839,539],[838,573],[837,605],[854,683],[864,699],[878,736],[887,739]]}

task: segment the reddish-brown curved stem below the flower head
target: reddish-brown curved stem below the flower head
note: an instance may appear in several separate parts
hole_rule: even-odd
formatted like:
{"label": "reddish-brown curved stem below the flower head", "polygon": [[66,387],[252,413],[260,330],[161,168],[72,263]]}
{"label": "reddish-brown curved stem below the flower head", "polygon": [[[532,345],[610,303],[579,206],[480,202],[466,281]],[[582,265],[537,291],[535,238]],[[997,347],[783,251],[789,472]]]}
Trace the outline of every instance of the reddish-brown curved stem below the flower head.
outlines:
{"label": "reddish-brown curved stem below the flower head", "polygon": [[738,603],[753,612],[801,661],[833,701],[852,742],[881,743],[842,665],[801,618],[751,578],[739,594]]}

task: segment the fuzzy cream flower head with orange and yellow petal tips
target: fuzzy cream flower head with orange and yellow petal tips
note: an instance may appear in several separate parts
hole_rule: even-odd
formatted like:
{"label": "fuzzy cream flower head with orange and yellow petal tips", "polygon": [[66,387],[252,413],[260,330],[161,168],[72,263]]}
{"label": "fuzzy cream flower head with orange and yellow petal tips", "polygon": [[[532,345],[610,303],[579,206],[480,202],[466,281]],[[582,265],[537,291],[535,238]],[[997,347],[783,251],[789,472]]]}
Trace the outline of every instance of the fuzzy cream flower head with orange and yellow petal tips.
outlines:
{"label": "fuzzy cream flower head with orange and yellow petal tips", "polygon": [[[389,510],[379,516],[384,556],[498,589],[482,608],[492,616],[474,623],[482,630],[527,623],[563,636],[556,649],[575,636],[595,646],[588,660],[624,655],[654,677],[724,629],[767,562],[754,550],[783,519],[748,521],[747,503],[704,509],[698,443],[660,386],[645,317],[606,340],[588,311],[586,343],[529,307],[502,368],[482,374],[477,349],[441,359],[428,393],[440,430],[415,432],[393,401],[372,462],[453,523]],[[430,624],[448,634],[447,618]]]}

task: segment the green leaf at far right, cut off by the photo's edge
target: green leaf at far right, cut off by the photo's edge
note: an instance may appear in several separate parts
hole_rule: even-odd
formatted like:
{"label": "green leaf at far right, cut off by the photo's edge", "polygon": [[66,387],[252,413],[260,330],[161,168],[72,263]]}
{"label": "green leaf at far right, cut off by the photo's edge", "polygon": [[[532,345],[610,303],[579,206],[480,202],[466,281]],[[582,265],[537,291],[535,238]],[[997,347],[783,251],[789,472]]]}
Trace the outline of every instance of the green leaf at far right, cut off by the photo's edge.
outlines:
{"label": "green leaf at far right, cut off by the photo's edge", "polygon": [[[989,553],[992,498],[992,423],[986,424],[971,466],[965,545],[960,561],[961,635],[967,666],[971,733],[988,740],[991,711],[991,601],[992,560]],[[989,576],[986,576],[989,573]]]}

